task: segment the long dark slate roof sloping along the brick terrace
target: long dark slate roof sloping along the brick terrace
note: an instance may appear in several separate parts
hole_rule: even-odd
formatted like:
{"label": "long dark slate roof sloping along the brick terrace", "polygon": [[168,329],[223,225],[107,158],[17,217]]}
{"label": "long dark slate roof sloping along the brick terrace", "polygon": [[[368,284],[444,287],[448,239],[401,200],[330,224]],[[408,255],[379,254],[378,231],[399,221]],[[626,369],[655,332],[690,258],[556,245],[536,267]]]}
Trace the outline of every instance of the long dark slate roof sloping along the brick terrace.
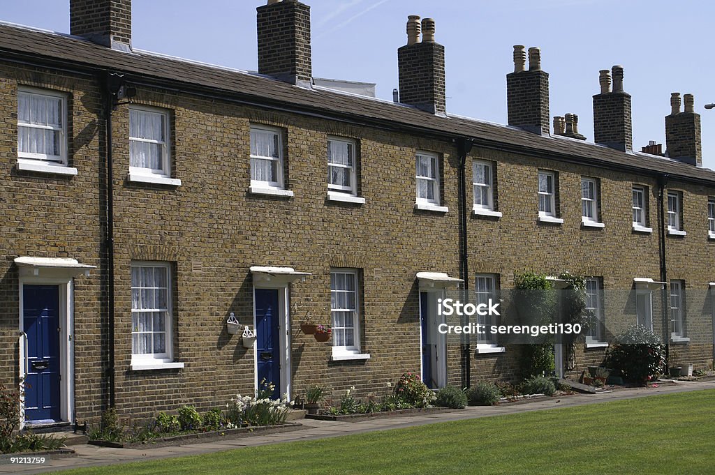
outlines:
{"label": "long dark slate roof sloping along the brick terrace", "polygon": [[[117,71],[128,78],[169,82],[177,89],[205,89],[256,105],[286,106],[359,124],[411,129],[440,137],[467,137],[477,146],[526,155],[577,161],[641,174],[670,174],[685,181],[715,184],[715,171],[648,154],[626,153],[563,137],[538,136],[516,127],[462,116],[435,116],[403,104],[363,96],[305,89],[267,76],[201,64],[144,51],[127,53],[66,34],[0,24],[0,60],[86,71]],[[130,79],[131,80],[131,79]],[[159,84],[159,83],[157,83]]]}

